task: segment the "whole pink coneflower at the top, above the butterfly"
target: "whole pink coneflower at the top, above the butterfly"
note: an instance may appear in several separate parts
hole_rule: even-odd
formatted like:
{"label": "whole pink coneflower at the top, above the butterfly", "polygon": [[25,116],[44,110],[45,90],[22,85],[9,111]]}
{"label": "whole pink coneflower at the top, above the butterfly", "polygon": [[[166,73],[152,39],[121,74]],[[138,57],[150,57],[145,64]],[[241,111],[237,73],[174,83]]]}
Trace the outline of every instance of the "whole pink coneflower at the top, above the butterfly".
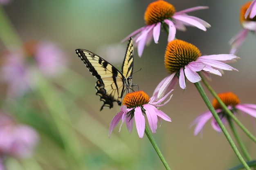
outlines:
{"label": "whole pink coneflower at the top, above the butterfly", "polygon": [[124,38],[122,42],[135,35],[135,46],[138,47],[138,55],[141,57],[145,45],[149,44],[152,39],[154,39],[156,44],[158,43],[161,28],[165,29],[168,27],[168,42],[174,40],[176,29],[186,31],[185,26],[195,26],[198,29],[206,31],[206,28],[211,27],[210,24],[200,18],[187,15],[186,13],[208,8],[209,7],[198,6],[175,12],[176,10],[172,4],[164,0],[157,0],[150,3],[146,9],[144,14],[146,26],[132,32]]}

